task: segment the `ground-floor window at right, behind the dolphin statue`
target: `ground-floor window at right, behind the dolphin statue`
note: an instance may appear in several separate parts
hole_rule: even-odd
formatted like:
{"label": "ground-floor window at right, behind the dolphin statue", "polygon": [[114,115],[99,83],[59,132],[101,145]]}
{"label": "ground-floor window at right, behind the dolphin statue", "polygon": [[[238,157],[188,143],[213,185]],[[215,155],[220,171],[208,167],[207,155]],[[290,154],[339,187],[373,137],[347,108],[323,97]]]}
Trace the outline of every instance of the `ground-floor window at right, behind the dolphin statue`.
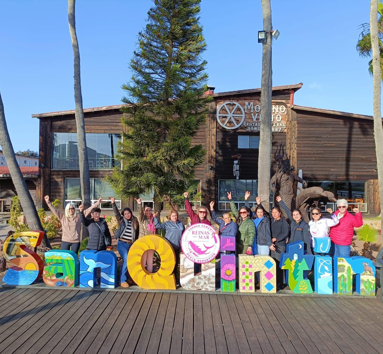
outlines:
{"label": "ground-floor window at right, behind the dolphin statue", "polygon": [[[323,190],[334,193],[336,199],[345,199],[349,203],[349,211],[358,207],[362,212],[367,212],[365,201],[365,182],[359,181],[308,181],[308,187],[321,187]],[[335,203],[327,203],[336,210]]]}

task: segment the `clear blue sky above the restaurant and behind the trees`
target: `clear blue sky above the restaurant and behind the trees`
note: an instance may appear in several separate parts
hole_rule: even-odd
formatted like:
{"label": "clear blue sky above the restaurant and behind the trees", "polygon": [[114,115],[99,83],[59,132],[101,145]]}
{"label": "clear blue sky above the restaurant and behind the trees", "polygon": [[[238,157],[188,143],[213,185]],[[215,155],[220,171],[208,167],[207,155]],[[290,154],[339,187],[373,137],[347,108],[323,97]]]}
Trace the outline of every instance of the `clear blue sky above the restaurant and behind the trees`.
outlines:
{"label": "clear blue sky above the restaurant and behind the trees", "polygon": [[[260,0],[202,0],[209,83],[216,92],[260,87]],[[150,0],[82,0],[76,4],[84,108],[119,104],[128,63]],[[295,103],[372,114],[368,60],[355,44],[370,3],[272,0],[273,86],[303,82]],[[67,2],[0,2],[0,91],[15,151],[38,150],[31,114],[74,109],[73,52]]]}

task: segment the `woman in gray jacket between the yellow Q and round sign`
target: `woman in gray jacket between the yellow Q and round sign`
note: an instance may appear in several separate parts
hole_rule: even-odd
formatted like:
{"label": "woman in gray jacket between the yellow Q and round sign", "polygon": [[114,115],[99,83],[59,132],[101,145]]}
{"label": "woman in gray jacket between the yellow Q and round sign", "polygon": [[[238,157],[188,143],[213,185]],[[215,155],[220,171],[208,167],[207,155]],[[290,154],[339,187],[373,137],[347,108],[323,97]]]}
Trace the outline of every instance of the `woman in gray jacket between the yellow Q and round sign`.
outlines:
{"label": "woman in gray jacket between the yellow Q and round sign", "polygon": [[[158,213],[154,213],[154,225],[155,228],[165,230],[165,238],[170,242],[175,253],[175,266],[173,273],[177,270],[178,263],[180,261],[180,244],[181,236],[185,231],[185,226],[180,220],[177,210],[170,209],[168,214],[169,221],[160,222],[157,218]],[[180,284],[179,279],[177,279],[177,286]]]}

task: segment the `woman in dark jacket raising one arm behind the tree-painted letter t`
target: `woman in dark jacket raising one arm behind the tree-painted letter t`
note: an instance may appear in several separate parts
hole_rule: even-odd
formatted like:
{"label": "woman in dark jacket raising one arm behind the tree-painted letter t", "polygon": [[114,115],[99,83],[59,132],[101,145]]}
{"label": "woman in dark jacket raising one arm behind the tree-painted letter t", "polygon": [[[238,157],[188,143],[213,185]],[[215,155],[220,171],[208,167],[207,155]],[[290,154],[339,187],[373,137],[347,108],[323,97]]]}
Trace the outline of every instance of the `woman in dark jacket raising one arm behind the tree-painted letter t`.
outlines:
{"label": "woman in dark jacket raising one arm behind the tree-painted letter t", "polygon": [[289,219],[288,222],[290,223],[290,239],[288,240],[288,244],[296,241],[303,241],[304,250],[306,250],[309,255],[312,255],[313,252],[311,251],[310,244],[310,228],[308,223],[302,219],[301,211],[299,209],[295,209],[291,213],[291,210],[286,207],[285,203],[282,202],[282,199],[279,195],[276,200],[279,203],[279,206],[285,210]]}

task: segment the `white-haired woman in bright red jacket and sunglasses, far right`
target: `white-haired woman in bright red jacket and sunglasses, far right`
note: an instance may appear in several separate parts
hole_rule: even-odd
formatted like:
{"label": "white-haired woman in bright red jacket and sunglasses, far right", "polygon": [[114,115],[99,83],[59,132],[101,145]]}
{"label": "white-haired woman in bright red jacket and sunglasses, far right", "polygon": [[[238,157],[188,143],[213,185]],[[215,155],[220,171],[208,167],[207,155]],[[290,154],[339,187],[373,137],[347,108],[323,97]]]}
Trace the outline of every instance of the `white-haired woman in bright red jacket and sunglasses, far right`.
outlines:
{"label": "white-haired woman in bright red jacket and sunglasses, far right", "polygon": [[352,211],[355,212],[355,216],[350,214],[347,211],[349,203],[345,199],[339,199],[337,204],[339,210],[335,212],[335,215],[339,224],[330,228],[331,251],[333,256],[349,257],[354,227],[363,225],[362,213],[358,208],[354,208]]}

